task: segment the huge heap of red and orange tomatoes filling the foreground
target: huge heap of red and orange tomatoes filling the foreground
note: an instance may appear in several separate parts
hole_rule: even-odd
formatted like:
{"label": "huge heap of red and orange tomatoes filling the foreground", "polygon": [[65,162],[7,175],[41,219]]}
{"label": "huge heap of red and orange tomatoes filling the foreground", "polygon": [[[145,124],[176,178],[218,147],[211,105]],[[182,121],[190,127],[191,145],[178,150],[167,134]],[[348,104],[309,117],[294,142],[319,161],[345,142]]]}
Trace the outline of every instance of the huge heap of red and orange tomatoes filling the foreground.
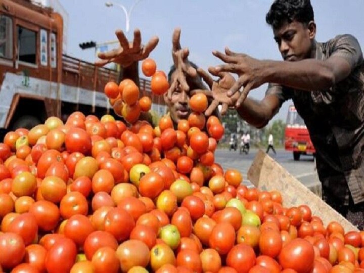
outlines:
{"label": "huge heap of red and orange tomatoes filling the foreground", "polygon": [[193,112],[176,129],[169,116],[153,127],[123,113],[150,108],[135,87],[126,80],[105,88],[131,125],[74,112],[65,124],[51,117],[6,134],[2,270],[364,271],[363,232],[324,226],[305,205],[285,208],[279,192],[247,188],[238,170],[215,162],[224,129],[202,114],[205,95],[191,98]]}

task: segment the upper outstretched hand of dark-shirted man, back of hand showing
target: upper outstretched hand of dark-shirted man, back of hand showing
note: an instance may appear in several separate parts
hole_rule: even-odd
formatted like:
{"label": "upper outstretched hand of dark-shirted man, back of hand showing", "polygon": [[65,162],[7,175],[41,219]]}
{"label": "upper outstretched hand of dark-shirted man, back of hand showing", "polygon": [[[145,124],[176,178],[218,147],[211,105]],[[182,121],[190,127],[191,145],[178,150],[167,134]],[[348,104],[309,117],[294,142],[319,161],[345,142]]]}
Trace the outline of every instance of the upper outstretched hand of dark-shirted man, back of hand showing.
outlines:
{"label": "upper outstretched hand of dark-shirted man, back of hand showing", "polygon": [[214,56],[227,63],[215,67],[216,72],[231,72],[239,75],[238,80],[231,86],[228,96],[231,97],[239,94],[239,90],[244,86],[240,93],[239,99],[236,101],[236,107],[239,107],[251,89],[257,88],[265,83],[262,61],[256,60],[245,54],[234,53],[228,48],[225,49],[225,54],[214,51]]}

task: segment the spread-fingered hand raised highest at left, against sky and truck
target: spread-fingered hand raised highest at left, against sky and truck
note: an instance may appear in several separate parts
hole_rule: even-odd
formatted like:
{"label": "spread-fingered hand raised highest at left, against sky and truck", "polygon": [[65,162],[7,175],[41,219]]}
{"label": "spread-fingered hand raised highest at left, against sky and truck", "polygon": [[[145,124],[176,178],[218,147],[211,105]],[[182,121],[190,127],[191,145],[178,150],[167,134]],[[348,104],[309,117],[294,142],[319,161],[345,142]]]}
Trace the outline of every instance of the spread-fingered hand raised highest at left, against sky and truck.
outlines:
{"label": "spread-fingered hand raised highest at left, against sky and truck", "polygon": [[114,62],[123,67],[128,67],[134,62],[138,62],[148,58],[149,54],[155,49],[158,44],[158,37],[152,37],[149,42],[143,46],[141,44],[141,32],[139,29],[134,30],[134,40],[129,43],[124,32],[120,29],[115,32],[119,42],[120,48],[111,50],[106,53],[99,53],[98,57],[101,59],[95,64],[104,66],[108,63]]}

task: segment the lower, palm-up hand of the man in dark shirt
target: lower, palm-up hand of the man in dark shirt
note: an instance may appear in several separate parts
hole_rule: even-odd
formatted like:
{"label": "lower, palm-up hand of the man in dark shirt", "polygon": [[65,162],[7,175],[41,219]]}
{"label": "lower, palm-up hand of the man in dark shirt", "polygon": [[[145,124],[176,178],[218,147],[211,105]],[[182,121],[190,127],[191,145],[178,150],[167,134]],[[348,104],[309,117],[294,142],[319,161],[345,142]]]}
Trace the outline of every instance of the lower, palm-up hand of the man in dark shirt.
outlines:
{"label": "lower, palm-up hand of the man in dark shirt", "polygon": [[197,69],[197,72],[211,89],[211,92],[204,92],[204,94],[208,98],[209,96],[212,96],[213,99],[205,111],[205,115],[211,115],[211,113],[217,108],[219,104],[222,104],[221,114],[224,115],[226,111],[228,111],[229,107],[233,107],[236,104],[239,98],[239,93],[236,93],[233,96],[228,96],[229,90],[235,84],[234,77],[230,73],[218,72],[215,68],[211,67],[209,68],[209,72],[214,76],[220,77],[219,80],[213,80],[212,77],[202,68]]}

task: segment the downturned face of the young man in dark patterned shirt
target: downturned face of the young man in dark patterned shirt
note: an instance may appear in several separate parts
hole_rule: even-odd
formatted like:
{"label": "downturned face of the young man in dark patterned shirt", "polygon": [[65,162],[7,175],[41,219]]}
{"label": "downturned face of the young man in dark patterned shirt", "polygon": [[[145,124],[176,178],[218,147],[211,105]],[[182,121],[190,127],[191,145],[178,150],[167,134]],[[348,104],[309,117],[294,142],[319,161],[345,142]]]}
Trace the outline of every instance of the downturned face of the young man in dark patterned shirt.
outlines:
{"label": "downturned face of the young man in dark patterned shirt", "polygon": [[313,22],[308,25],[293,21],[273,29],[279,51],[285,61],[300,61],[311,55],[312,41],[316,27]]}

